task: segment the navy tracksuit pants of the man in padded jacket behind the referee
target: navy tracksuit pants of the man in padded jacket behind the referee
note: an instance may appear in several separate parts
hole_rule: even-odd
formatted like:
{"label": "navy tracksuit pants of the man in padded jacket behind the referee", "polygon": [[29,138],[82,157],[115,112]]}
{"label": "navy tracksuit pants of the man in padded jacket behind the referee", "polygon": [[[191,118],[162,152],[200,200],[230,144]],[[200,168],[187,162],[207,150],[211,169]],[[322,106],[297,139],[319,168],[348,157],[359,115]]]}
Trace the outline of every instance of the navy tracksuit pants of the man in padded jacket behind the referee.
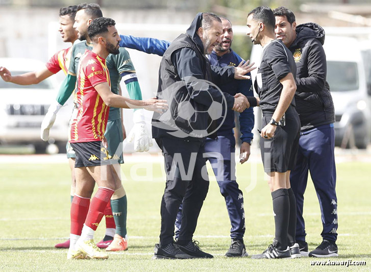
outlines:
{"label": "navy tracksuit pants of the man in padded jacket behind the referee", "polygon": [[335,132],[333,124],[301,132],[298,159],[290,174],[291,188],[296,197],[296,240],[305,241],[303,218],[304,192],[307,187],[308,171],[317,193],[323,239],[336,241],[337,198],[336,168],[334,158]]}

